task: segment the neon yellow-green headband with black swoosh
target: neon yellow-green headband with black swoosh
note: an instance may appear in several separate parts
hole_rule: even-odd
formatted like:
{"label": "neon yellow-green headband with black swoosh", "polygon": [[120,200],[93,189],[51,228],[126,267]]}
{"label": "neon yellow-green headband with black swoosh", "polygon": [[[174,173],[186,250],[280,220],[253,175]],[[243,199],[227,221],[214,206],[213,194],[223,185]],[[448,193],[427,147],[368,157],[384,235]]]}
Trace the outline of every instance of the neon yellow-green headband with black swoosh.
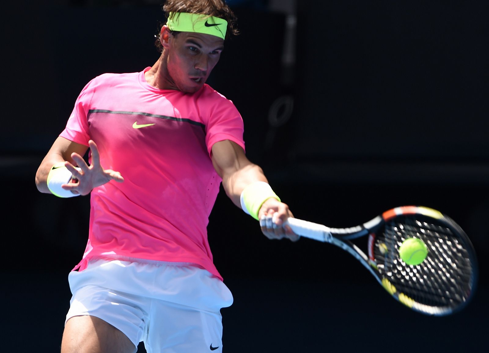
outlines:
{"label": "neon yellow-green headband with black swoosh", "polygon": [[219,17],[187,12],[170,12],[166,24],[171,31],[210,34],[222,39],[227,29],[227,21]]}

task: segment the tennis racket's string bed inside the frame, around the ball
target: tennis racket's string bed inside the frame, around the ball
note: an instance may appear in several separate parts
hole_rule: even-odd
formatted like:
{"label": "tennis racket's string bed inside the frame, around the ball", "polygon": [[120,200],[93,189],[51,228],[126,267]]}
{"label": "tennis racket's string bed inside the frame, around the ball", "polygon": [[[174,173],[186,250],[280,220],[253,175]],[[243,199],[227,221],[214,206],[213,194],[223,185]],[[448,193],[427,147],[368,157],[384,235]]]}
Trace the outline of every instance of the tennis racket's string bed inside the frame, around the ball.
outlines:
{"label": "tennis racket's string bed inside the frame, around the ball", "polygon": [[[420,265],[406,265],[399,247],[419,238],[428,248]],[[466,247],[451,229],[434,222],[402,217],[386,224],[374,248],[381,275],[397,291],[428,307],[457,307],[470,294],[473,268]]]}

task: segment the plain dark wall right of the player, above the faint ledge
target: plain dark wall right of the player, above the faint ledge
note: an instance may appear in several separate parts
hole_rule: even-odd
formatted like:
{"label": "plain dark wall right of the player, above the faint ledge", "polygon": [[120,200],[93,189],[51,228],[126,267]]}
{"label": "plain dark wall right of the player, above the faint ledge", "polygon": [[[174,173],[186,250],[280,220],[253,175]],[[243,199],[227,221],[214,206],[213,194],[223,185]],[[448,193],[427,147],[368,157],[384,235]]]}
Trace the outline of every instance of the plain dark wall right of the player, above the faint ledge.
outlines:
{"label": "plain dark wall right of the player, above the faint ledge", "polygon": [[486,1],[297,6],[294,153],[487,161]]}

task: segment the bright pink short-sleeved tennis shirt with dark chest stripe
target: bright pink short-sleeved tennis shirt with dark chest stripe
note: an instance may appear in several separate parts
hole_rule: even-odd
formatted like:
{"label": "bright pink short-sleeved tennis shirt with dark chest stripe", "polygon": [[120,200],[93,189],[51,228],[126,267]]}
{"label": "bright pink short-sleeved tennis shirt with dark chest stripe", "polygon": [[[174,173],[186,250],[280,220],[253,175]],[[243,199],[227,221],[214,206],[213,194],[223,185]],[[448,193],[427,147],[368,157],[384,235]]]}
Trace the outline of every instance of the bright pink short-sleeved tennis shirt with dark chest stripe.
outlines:
{"label": "bright pink short-sleeved tennis shirt with dark chest stripe", "polygon": [[185,262],[222,280],[207,241],[222,181],[210,155],[222,140],[244,148],[243,120],[208,85],[192,94],[150,86],[149,69],[91,80],[60,134],[95,141],[102,167],[124,177],[92,190],[87,248],[74,269],[93,257]]}

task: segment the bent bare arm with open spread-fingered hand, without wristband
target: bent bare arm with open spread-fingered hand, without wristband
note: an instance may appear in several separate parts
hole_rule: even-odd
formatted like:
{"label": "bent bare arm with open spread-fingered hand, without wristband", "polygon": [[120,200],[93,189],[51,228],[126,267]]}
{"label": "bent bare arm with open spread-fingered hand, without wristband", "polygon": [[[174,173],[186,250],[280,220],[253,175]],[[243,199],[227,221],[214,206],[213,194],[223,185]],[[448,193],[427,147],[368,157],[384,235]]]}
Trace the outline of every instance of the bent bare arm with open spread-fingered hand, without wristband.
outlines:
{"label": "bent bare arm with open spread-fingered hand, without wristband", "polygon": [[[83,159],[83,155],[90,148],[91,164],[88,165]],[[47,176],[52,166],[59,162],[65,162],[65,167],[78,179],[75,183],[64,184],[65,190],[70,190],[73,194],[88,195],[93,188],[103,185],[110,180],[123,182],[124,178],[119,172],[111,169],[103,169],[100,164],[100,155],[95,142],[89,141],[89,147],[76,142],[58,137],[45,155],[36,173],[37,189],[46,194],[50,194],[47,187]],[[78,166],[80,170],[75,169]]]}

